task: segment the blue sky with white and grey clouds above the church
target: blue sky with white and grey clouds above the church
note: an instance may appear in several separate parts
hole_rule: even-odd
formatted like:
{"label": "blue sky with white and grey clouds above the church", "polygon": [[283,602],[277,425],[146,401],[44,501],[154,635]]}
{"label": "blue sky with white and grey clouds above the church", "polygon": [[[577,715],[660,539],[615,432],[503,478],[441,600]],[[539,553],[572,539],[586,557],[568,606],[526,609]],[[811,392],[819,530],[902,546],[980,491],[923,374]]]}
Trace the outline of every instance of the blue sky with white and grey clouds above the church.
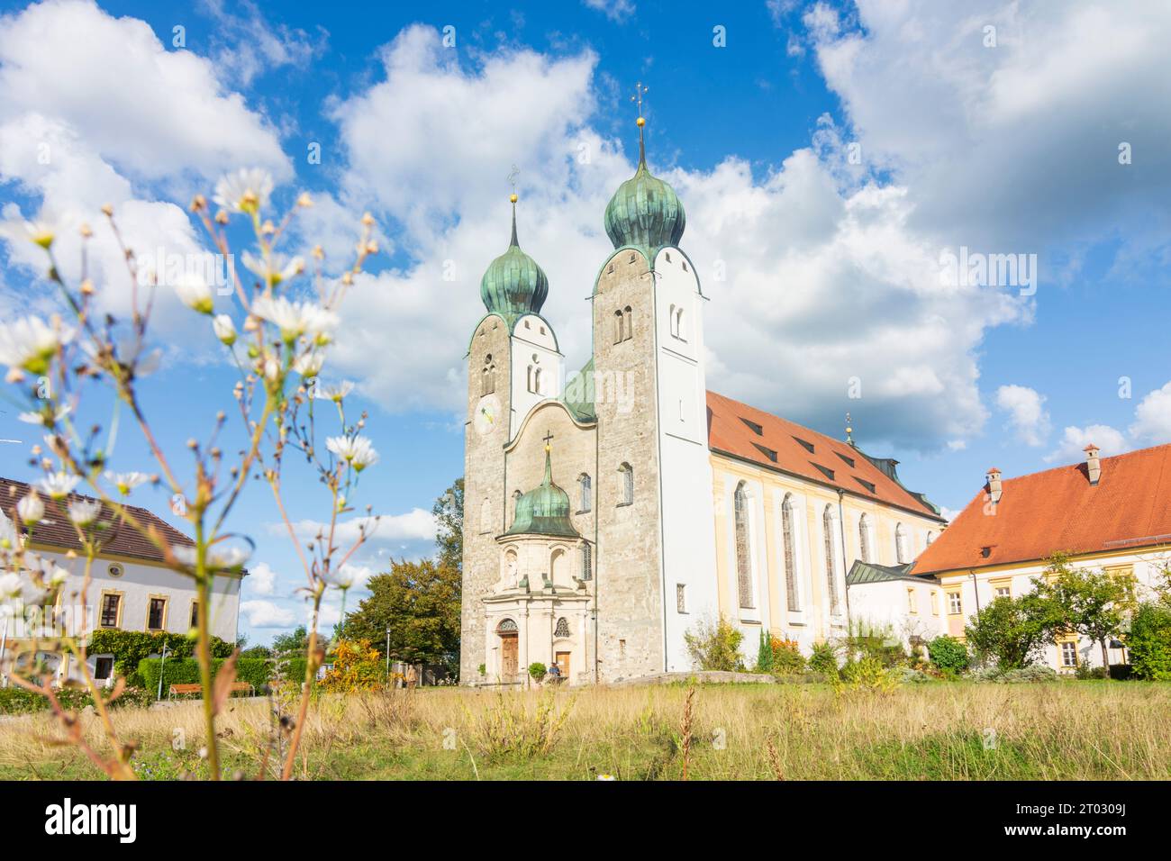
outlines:
{"label": "blue sky with white and grey clouds above the church", "polygon": [[[712,300],[708,387],[829,433],[849,410],[864,449],[958,510],[991,465],[1013,476],[1091,438],[1104,455],[1171,440],[1171,11],[1121,6],[4,4],[0,207],[97,223],[112,199],[136,246],[198,250],[183,204],[259,165],[279,205],[314,193],[290,251],[321,242],[330,261],[370,211],[383,251],[324,376],[358,383],[382,455],[356,500],[386,520],[358,560],[375,570],[430,551],[424,512],[461,473],[464,350],[479,275],[507,241],[513,164],[547,316],[570,365],[588,357],[581,299],[608,248],[605,200],[632,171],[643,81],[652,169],[687,207],[682,245]],[[960,246],[1036,254],[1035,295],[944,286],[940,253]],[[52,312],[35,255],[0,257],[0,317]],[[116,261],[98,265],[116,312]],[[179,451],[235,377],[172,299],[144,391]],[[26,442],[0,445],[4,472],[28,478],[30,429],[0,409],[0,438]],[[88,409],[108,421],[100,398]],[[129,430],[116,459],[150,470]],[[300,474],[292,517],[320,520]],[[267,491],[245,503],[235,526],[265,568],[241,627],[266,642],[303,621],[300,575]]]}

